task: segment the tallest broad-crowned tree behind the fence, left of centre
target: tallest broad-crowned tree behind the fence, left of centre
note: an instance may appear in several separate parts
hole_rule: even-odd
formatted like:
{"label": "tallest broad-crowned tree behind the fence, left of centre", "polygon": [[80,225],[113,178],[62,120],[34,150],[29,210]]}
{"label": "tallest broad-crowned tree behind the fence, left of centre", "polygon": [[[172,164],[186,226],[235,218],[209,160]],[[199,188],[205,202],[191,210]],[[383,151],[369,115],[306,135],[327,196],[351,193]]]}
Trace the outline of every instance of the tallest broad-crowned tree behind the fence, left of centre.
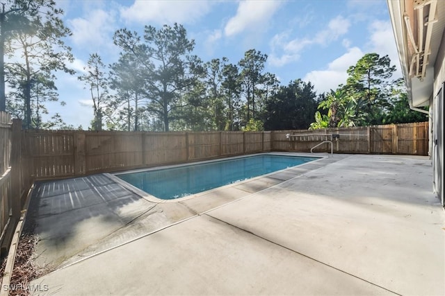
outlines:
{"label": "tallest broad-crowned tree behind the fence, left of centre", "polygon": [[164,25],[159,30],[145,26],[144,32],[143,43],[136,32],[121,29],[115,33],[114,43],[144,65],[150,101],[147,110],[158,114],[168,131],[170,112],[182,107],[181,94],[202,75],[201,62],[191,55],[195,41],[188,40],[183,26]]}

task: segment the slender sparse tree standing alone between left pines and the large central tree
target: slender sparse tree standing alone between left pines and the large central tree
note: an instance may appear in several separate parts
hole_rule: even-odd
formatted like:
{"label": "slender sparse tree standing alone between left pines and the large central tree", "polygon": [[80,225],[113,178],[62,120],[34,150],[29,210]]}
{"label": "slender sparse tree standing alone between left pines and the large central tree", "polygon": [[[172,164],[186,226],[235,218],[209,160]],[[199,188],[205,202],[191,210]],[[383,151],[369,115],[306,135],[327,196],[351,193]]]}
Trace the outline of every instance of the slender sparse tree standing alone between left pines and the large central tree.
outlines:
{"label": "slender sparse tree standing alone between left pines and the large central tree", "polygon": [[108,82],[106,80],[106,67],[102,58],[97,53],[90,54],[87,66],[84,67],[86,73],[79,76],[86,88],[90,90],[94,119],[92,120],[92,130],[102,130],[103,117],[106,104],[108,103]]}

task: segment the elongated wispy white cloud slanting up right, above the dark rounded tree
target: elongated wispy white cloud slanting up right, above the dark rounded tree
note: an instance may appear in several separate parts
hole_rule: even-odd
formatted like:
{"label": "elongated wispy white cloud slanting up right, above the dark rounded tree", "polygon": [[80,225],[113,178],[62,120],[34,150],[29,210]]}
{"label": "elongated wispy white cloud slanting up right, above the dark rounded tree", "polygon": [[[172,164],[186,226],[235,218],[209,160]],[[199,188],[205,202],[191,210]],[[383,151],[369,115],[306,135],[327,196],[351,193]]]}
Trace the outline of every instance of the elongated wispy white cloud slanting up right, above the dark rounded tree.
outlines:
{"label": "elongated wispy white cloud slanting up right, above the dark rounded tree", "polygon": [[[318,31],[313,38],[305,37],[289,40],[289,32],[277,34],[270,42],[272,53],[270,54],[269,64],[275,67],[282,67],[289,62],[295,62],[300,58],[301,52],[307,46],[313,44],[326,46],[348,33],[349,27],[350,21],[338,16],[331,19],[327,24],[327,28]],[[279,54],[280,52],[281,54]]]}

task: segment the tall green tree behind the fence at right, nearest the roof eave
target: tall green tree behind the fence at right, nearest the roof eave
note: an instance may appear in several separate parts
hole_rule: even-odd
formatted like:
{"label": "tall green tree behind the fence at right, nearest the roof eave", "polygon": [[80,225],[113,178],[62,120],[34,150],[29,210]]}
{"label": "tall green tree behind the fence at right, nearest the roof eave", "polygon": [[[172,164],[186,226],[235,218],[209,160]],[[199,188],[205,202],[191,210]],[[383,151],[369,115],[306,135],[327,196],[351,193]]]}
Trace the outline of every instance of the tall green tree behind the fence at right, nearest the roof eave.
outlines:
{"label": "tall green tree behind the fence at right, nearest the roof eave", "polygon": [[388,55],[380,57],[377,53],[366,53],[355,66],[349,67],[345,87],[348,96],[357,103],[360,125],[382,123],[393,86],[397,85],[391,79],[394,71],[396,66],[391,66]]}

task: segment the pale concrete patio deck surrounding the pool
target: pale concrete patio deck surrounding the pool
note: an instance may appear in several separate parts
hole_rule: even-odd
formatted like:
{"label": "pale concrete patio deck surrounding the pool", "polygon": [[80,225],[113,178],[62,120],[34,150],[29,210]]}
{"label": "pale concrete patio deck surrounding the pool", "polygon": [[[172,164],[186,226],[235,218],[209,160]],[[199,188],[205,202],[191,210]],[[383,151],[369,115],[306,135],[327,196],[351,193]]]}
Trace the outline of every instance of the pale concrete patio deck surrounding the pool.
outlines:
{"label": "pale concrete patio deck surrounding the pool", "polygon": [[180,202],[104,175],[47,182],[35,295],[445,295],[426,157],[334,155]]}

